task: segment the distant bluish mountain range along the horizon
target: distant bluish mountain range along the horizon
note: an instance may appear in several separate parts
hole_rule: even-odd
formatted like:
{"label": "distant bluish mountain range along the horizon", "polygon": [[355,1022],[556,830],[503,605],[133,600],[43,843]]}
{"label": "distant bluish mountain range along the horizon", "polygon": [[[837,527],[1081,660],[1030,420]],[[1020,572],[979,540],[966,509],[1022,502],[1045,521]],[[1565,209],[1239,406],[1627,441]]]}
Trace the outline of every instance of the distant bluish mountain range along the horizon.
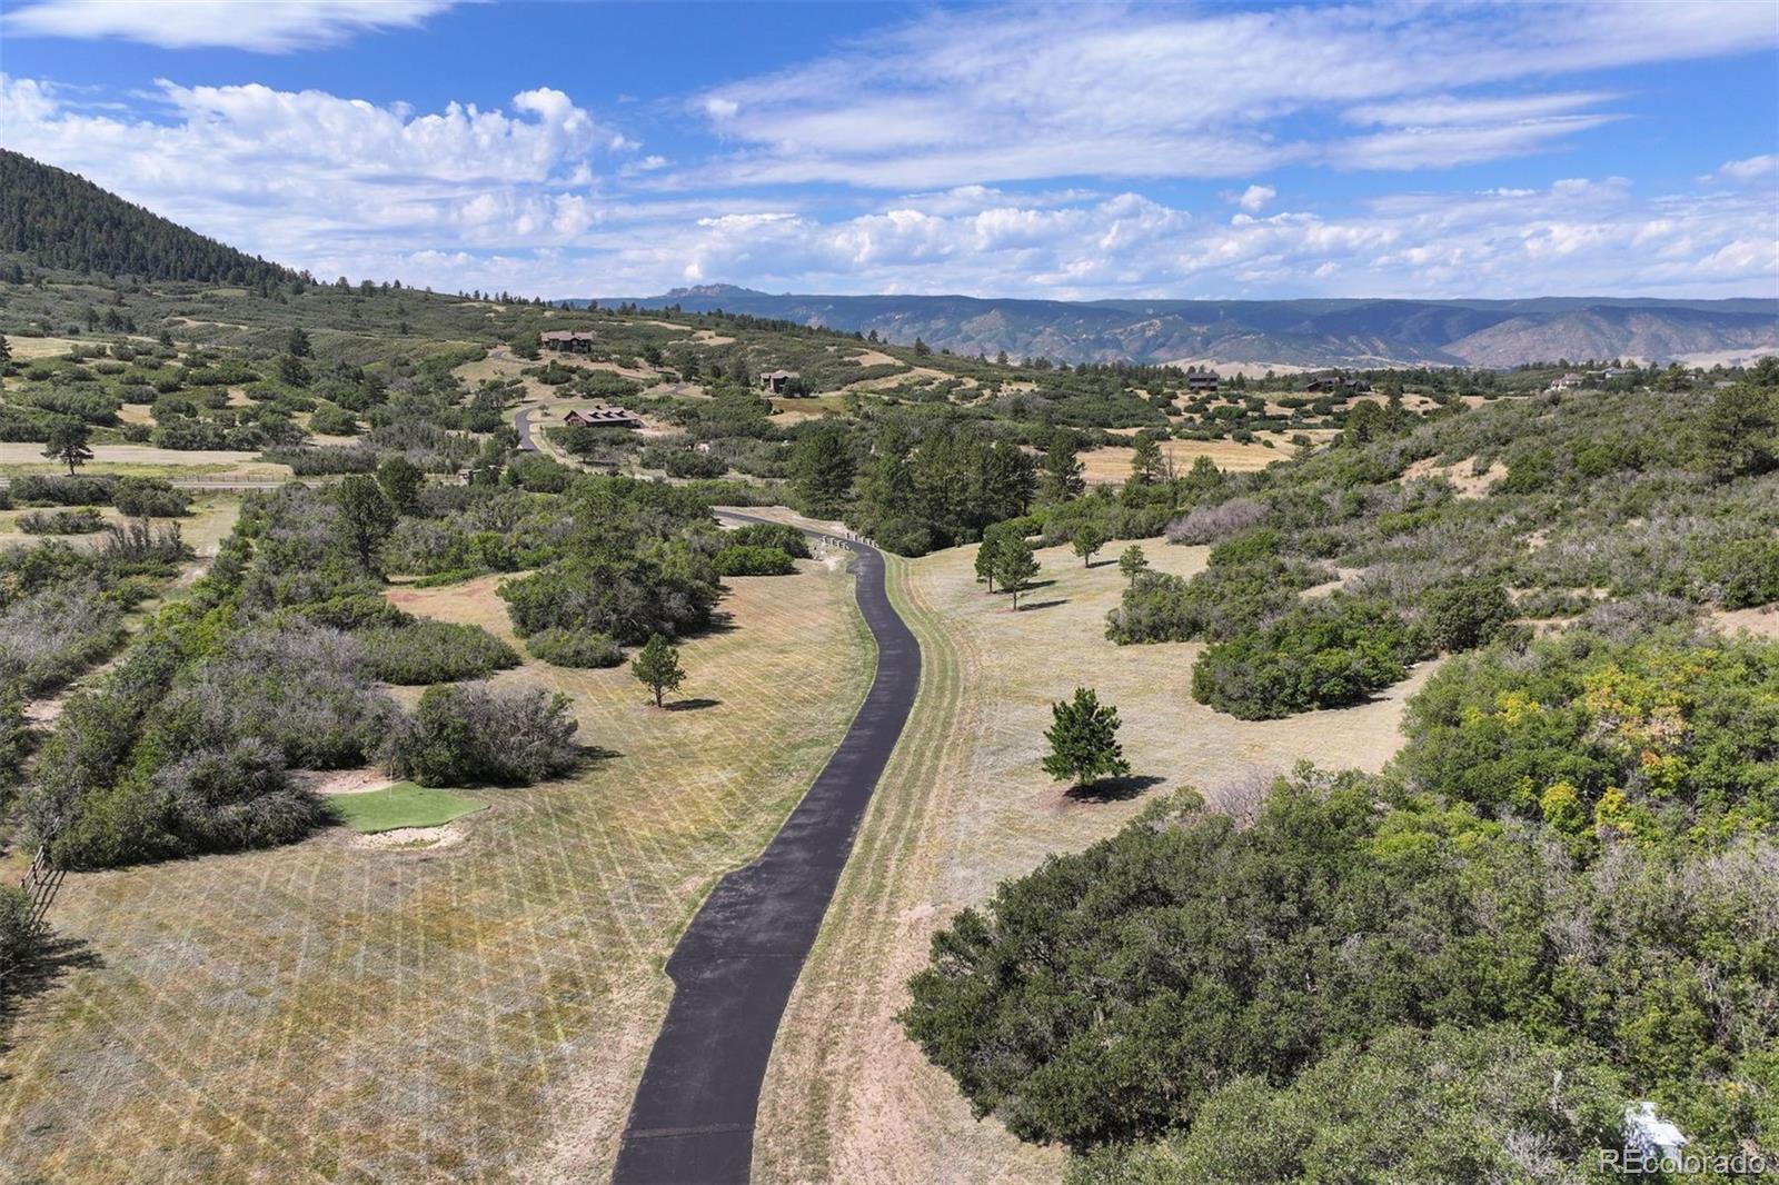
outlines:
{"label": "distant bluish mountain range along the horizon", "polygon": [[724,310],[920,338],[957,354],[1292,367],[1517,367],[1640,359],[1726,365],[1779,352],[1779,301],[1016,301],[959,295],[772,295],[735,285],[600,304]]}

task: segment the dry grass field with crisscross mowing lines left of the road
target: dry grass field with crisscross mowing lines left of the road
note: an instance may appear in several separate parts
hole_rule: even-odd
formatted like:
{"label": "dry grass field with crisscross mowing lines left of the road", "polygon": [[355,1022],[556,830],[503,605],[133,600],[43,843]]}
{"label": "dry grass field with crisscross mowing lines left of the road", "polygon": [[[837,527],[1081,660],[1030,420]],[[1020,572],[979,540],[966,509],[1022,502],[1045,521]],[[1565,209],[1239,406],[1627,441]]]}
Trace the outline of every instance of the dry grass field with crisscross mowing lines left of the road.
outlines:
{"label": "dry grass field with crisscross mowing lines left of the road", "polygon": [[[610,1169],[715,877],[827,760],[873,665],[852,578],[735,580],[685,710],[527,664],[600,754],[477,790],[445,842],[306,843],[69,875],[62,973],[4,1034],[0,1180],[587,1181]],[[503,632],[495,578],[398,589]]]}

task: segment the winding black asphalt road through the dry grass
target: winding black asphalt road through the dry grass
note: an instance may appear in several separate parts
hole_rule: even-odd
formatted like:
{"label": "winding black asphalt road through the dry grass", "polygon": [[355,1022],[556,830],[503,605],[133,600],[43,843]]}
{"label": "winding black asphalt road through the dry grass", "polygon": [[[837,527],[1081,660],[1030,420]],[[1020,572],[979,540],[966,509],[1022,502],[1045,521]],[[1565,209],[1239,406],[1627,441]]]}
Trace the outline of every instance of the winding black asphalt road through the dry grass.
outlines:
{"label": "winding black asphalt road through the dry grass", "polygon": [[614,1185],[747,1180],[760,1084],[785,1002],[914,705],[920,644],[884,592],[882,553],[825,537],[857,553],[859,610],[877,639],[877,676],[772,843],[717,883],[667,959],[672,1005],[630,1107]]}

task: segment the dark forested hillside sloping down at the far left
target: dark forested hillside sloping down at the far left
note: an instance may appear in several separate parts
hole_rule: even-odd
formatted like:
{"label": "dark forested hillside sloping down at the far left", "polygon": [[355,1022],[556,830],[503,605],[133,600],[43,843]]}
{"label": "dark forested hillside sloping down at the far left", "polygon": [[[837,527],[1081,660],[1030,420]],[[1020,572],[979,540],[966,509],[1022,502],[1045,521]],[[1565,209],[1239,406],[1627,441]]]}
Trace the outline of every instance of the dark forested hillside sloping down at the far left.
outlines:
{"label": "dark forested hillside sloping down at the far left", "polygon": [[276,263],[205,238],[82,176],[0,149],[0,253],[75,272],[262,285]]}

